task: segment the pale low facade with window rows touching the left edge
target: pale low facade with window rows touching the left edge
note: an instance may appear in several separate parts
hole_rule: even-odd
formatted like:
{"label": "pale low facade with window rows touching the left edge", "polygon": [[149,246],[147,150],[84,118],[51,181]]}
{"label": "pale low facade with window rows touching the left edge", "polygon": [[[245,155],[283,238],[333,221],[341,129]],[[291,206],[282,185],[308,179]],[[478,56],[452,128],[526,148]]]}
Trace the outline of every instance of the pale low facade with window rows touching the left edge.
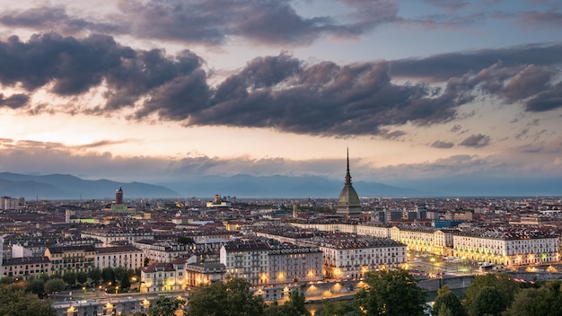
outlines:
{"label": "pale low facade with window rows touching the left edge", "polygon": [[0,276],[28,278],[49,275],[51,262],[47,257],[22,257],[2,259]]}

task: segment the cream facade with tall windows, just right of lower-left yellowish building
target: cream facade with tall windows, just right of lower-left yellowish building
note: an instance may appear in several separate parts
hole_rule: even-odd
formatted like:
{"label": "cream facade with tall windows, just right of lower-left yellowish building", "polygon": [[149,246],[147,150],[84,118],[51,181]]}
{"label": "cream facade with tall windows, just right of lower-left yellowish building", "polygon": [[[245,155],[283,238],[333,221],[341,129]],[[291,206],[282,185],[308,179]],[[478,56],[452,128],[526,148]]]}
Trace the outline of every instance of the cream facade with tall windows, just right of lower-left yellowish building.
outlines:
{"label": "cream facade with tall windows, just right of lower-left yellowish building", "polygon": [[143,268],[145,253],[133,246],[96,248],[95,268]]}

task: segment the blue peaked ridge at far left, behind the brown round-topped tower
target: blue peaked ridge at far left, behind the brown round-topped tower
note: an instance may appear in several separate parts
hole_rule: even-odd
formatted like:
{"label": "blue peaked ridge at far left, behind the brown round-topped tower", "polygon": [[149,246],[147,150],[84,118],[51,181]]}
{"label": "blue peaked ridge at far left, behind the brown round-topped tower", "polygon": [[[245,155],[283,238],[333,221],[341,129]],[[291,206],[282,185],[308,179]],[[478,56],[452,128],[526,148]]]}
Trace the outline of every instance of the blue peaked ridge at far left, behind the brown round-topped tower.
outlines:
{"label": "blue peaked ridge at far left, behind the brown round-topped tower", "polygon": [[0,196],[13,198],[79,199],[114,198],[115,190],[123,187],[125,198],[178,198],[171,189],[140,183],[120,183],[111,180],[83,180],[68,174],[44,176],[0,172]]}

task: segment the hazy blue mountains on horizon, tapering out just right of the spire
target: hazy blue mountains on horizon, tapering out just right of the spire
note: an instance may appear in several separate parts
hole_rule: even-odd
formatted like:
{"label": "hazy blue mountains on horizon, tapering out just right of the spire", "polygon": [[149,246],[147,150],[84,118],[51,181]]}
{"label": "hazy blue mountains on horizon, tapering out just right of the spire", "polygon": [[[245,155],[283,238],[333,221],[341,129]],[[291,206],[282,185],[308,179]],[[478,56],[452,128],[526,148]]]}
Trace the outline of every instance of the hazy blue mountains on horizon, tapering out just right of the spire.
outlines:
{"label": "hazy blue mountains on horizon, tapering out just right of the spire", "polygon": [[[0,196],[28,199],[114,198],[123,188],[125,198],[208,198],[215,194],[239,198],[338,198],[343,180],[321,177],[235,175],[209,176],[158,185],[112,180],[83,180],[68,174],[25,175],[0,172]],[[357,181],[354,187],[364,197],[414,197],[427,193],[381,183]]]}

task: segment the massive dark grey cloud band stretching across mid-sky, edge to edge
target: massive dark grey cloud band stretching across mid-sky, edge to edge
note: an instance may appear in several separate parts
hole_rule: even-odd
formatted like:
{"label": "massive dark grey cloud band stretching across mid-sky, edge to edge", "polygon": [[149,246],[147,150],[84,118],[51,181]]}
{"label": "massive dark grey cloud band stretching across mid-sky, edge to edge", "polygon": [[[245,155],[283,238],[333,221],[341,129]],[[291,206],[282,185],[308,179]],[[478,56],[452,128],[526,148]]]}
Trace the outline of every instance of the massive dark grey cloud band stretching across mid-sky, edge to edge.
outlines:
{"label": "massive dark grey cloud band stretching across mid-sky, edge to edge", "polygon": [[[555,48],[562,46],[549,47]],[[527,56],[537,48],[518,49],[520,56]],[[498,51],[487,54],[496,56]],[[471,55],[478,60],[482,54]],[[49,33],[34,35],[27,42],[13,36],[0,42],[0,83],[4,86],[27,93],[43,89],[66,100],[77,100],[87,93],[98,93],[99,98],[93,105],[72,101],[72,106],[53,103],[44,107],[30,105],[27,94],[20,93],[0,99],[0,105],[13,109],[26,105],[28,112],[92,115],[123,110],[119,113],[127,113],[129,119],[157,118],[186,126],[267,127],[307,135],[392,138],[404,132],[389,133],[386,127],[452,121],[459,107],[481,93],[506,102],[524,101],[528,111],[560,106],[562,83],[553,83],[558,80],[554,67],[562,63],[562,54],[551,57],[550,67],[515,66],[515,60],[506,66],[495,61],[473,72],[460,62],[456,67],[461,75],[450,77],[444,87],[424,80],[395,83],[395,66],[403,62],[307,63],[282,52],[257,57],[211,86],[205,60],[189,50],[167,56],[161,49],[133,49],[96,34],[78,39]],[[412,69],[399,73],[416,75],[418,64],[423,68],[426,63],[426,59],[409,60]],[[437,60],[429,64],[433,63]],[[425,75],[439,78],[441,69],[443,66],[437,66],[433,73],[428,69]]]}

